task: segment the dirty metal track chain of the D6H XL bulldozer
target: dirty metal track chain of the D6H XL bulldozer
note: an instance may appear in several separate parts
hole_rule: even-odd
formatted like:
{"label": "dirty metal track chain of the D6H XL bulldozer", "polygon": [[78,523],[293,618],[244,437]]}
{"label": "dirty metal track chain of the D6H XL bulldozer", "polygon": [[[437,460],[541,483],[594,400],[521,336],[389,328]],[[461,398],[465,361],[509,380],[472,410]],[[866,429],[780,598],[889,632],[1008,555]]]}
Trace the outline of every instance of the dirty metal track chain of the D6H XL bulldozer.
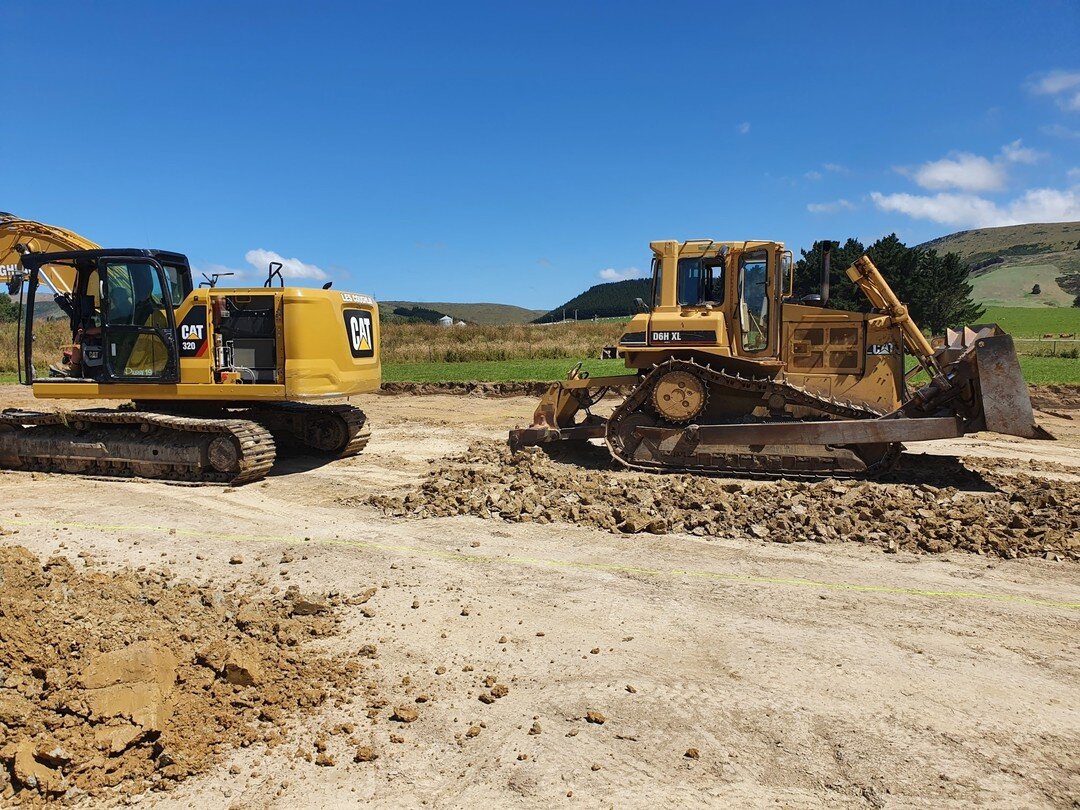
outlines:
{"label": "dirty metal track chain of the D6H XL bulldozer", "polygon": [[686,463],[685,457],[670,457],[656,461],[642,461],[627,458],[622,444],[620,428],[624,426],[627,417],[632,414],[642,413],[642,406],[651,399],[651,392],[659,379],[672,370],[685,370],[694,374],[711,386],[719,386],[732,391],[740,391],[752,394],[759,394],[761,403],[770,401],[773,396],[783,397],[785,405],[812,408],[833,417],[845,419],[876,419],[883,416],[873,408],[839,401],[832,397],[821,396],[811,393],[805,388],[794,386],[783,379],[767,377],[743,377],[742,375],[729,374],[723,369],[716,369],[707,364],[697,363],[693,360],[667,360],[653,366],[631,392],[631,394],[611,413],[608,420],[606,441],[611,455],[621,463],[634,470],[645,472],[692,472],[708,473],[713,475],[739,475],[751,477],[777,477],[787,478],[821,478],[821,477],[865,477],[890,470],[900,458],[902,445],[890,444],[882,456],[876,461],[866,465],[864,470],[850,471],[839,470],[824,464],[814,465],[819,457],[778,455],[768,453],[731,453],[731,454],[707,454],[707,462],[693,464]]}

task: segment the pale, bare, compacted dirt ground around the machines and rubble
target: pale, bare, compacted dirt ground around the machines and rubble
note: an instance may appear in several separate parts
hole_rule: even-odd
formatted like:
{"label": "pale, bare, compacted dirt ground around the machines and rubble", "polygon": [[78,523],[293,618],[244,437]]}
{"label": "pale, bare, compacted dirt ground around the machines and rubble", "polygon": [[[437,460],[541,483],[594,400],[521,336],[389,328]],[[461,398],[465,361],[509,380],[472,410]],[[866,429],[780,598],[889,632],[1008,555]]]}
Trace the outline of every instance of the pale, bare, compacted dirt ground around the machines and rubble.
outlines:
{"label": "pale, bare, compacted dirt ground around the machines and rubble", "polygon": [[[528,421],[535,401],[359,399],[373,423],[362,456],[294,461],[242,488],[0,473],[4,546],[40,561],[59,555],[86,576],[127,569],[154,588],[183,582],[271,607],[289,586],[325,595],[333,632],[296,649],[337,662],[327,666],[362,664],[353,683],[329,679],[334,699],[286,705],[274,725],[283,740],[242,734],[187,779],[150,780],[126,798],[76,794],[75,804],[1080,802],[1080,564],[1071,553],[1080,411],[1062,407],[1071,403],[1038,415],[1057,442],[980,434],[916,445],[904,477],[860,490],[859,504],[832,492],[838,500],[825,509],[818,504],[812,524],[832,516],[854,527],[819,536],[807,523],[741,518],[751,507],[740,504],[772,502],[778,514],[799,505],[795,490],[784,491],[785,507],[747,482],[702,483],[705,495],[728,487],[732,519],[714,515],[700,532],[687,508],[701,494],[666,478],[649,481],[684,502],[659,534],[648,521],[635,532],[600,518],[570,523],[569,507],[550,498],[542,519],[471,507],[435,516],[424,505],[431,473],[441,480],[470,453],[489,453]],[[0,400],[30,404],[15,387]],[[569,461],[537,463],[532,481],[581,481]],[[930,483],[919,483],[920,471]],[[638,501],[652,486],[603,465],[588,474]],[[491,475],[446,480],[472,503],[489,484],[514,483]],[[868,528],[890,491],[902,505]],[[565,504],[566,495],[552,497]],[[416,509],[404,508],[409,496]],[[922,498],[930,516],[918,514]],[[985,510],[970,499],[985,499]],[[961,512],[951,524],[950,502]],[[650,509],[656,519],[663,504]],[[860,509],[865,518],[850,523]],[[943,537],[996,530],[1002,515],[1018,515],[1012,534],[998,532],[1017,542],[890,546],[903,538],[889,523],[900,511],[917,524],[939,521]],[[789,537],[774,542],[781,529]],[[173,652],[180,667],[194,654],[185,649]],[[0,670],[0,686],[4,677],[12,674]]]}

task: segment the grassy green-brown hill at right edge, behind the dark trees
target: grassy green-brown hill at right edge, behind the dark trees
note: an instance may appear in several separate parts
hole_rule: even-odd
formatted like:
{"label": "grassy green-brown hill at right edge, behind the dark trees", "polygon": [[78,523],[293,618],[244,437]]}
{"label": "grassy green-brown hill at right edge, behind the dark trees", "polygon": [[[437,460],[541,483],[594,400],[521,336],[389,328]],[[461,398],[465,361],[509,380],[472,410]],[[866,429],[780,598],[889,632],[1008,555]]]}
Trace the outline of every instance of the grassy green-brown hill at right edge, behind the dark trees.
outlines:
{"label": "grassy green-brown hill at right edge, behind the dark trees", "polygon": [[1080,222],[980,228],[920,246],[960,254],[986,307],[1069,307],[1080,295]]}

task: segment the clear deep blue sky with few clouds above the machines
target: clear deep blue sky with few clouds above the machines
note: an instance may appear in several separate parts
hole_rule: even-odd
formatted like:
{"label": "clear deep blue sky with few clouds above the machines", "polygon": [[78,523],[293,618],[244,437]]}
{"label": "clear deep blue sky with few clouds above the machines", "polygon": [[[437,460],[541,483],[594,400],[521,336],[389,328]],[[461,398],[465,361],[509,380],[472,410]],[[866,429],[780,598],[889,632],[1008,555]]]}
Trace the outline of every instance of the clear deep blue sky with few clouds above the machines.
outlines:
{"label": "clear deep blue sky with few clouds above the machines", "polygon": [[[1080,219],[1080,4],[0,0],[0,210],[543,309],[656,239]],[[243,278],[243,276],[241,276]]]}

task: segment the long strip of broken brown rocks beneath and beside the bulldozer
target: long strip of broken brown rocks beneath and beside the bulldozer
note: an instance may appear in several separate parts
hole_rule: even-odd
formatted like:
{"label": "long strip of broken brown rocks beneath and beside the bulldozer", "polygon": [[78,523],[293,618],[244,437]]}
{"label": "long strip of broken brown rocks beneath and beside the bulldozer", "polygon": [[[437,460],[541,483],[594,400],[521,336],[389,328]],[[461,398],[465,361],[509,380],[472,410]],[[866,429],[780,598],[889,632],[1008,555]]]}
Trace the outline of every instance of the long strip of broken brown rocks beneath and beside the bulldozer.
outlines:
{"label": "long strip of broken brown rocks beneath and beside the bulldozer", "polygon": [[[414,490],[366,502],[397,517],[475,515],[626,534],[851,541],[890,552],[962,549],[1009,558],[1080,559],[1077,483],[994,478],[959,464],[933,468],[936,462],[921,471],[902,470],[899,483],[735,482],[634,473],[615,469],[604,450],[581,453],[561,461],[535,447],[512,453],[501,443],[480,442],[437,462]],[[914,483],[927,481],[934,484]]]}

